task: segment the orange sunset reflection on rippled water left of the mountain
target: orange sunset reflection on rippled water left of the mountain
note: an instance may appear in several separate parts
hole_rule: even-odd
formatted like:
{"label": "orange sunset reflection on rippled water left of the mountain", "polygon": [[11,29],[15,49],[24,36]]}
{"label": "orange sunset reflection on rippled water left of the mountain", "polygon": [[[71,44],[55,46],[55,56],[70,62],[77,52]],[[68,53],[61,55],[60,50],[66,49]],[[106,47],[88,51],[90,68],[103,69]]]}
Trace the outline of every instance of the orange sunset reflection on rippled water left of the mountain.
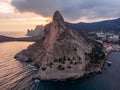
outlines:
{"label": "orange sunset reflection on rippled water left of the mountain", "polygon": [[25,49],[29,44],[26,42],[0,43],[0,90],[30,90],[28,87],[33,83],[31,76],[34,72],[27,64],[13,59],[17,52]]}

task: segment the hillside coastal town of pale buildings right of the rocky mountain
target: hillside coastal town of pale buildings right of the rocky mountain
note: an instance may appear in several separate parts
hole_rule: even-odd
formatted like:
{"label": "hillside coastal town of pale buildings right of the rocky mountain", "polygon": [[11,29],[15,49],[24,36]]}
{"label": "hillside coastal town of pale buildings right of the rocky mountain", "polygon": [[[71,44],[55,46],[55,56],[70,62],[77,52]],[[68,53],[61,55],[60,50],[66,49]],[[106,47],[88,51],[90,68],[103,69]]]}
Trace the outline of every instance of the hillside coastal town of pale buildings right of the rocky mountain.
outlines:
{"label": "hillside coastal town of pale buildings right of the rocky mountain", "polygon": [[111,51],[120,51],[120,32],[88,32],[85,37],[101,43],[106,54]]}

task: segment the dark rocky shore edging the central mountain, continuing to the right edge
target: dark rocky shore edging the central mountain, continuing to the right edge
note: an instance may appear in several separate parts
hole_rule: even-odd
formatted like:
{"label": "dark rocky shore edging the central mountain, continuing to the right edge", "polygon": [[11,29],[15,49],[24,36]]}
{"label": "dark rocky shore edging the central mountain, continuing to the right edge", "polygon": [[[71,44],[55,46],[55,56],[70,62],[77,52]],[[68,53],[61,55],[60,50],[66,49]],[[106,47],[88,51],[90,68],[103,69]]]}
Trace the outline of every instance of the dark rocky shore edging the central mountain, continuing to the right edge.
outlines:
{"label": "dark rocky shore edging the central mountain, continuing to the right edge", "polygon": [[[112,52],[119,52],[119,51],[120,51],[120,48],[111,49],[109,52],[106,49],[104,49],[104,52],[106,53],[106,56],[105,56],[106,59],[104,59],[101,62],[99,62],[98,64],[94,64],[94,65],[89,63],[89,65],[86,66],[86,70],[84,71],[84,75],[82,77],[78,78],[77,76],[74,76],[74,77],[69,77],[69,78],[63,78],[59,81],[69,81],[69,80],[71,81],[71,80],[90,77],[94,74],[100,74],[104,70],[104,66],[105,66],[106,60],[108,58],[108,55]],[[38,75],[33,76],[32,79],[33,80],[36,80],[36,79],[41,80]],[[42,79],[41,81],[48,81],[48,80],[47,79],[44,79],[44,80]],[[57,82],[58,80],[51,79],[49,81],[56,81]]]}

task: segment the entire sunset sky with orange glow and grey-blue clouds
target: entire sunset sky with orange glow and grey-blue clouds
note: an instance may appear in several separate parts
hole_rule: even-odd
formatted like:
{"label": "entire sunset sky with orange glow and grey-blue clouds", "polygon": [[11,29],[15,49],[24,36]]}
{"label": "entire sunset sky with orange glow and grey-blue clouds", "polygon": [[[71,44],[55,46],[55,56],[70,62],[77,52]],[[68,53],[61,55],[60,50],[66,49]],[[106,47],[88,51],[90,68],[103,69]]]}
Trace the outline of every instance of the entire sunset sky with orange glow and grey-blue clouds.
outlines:
{"label": "entire sunset sky with orange glow and grey-blue clouds", "polygon": [[66,21],[120,18],[120,0],[0,0],[0,32],[23,32],[47,24],[59,10]]}

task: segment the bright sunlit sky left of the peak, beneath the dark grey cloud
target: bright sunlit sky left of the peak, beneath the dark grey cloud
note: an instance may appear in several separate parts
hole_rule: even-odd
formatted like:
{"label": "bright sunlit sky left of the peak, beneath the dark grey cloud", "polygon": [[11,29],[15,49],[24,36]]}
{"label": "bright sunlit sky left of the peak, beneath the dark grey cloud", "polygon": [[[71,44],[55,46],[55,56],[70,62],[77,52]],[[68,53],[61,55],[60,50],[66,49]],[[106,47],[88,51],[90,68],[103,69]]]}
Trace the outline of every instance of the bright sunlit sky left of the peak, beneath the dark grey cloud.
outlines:
{"label": "bright sunlit sky left of the peak, beneath the dark grey cloud", "polygon": [[11,0],[0,0],[0,31],[26,31],[34,29],[36,25],[45,25],[51,21],[50,17],[43,17],[34,13],[20,13],[10,4]]}

